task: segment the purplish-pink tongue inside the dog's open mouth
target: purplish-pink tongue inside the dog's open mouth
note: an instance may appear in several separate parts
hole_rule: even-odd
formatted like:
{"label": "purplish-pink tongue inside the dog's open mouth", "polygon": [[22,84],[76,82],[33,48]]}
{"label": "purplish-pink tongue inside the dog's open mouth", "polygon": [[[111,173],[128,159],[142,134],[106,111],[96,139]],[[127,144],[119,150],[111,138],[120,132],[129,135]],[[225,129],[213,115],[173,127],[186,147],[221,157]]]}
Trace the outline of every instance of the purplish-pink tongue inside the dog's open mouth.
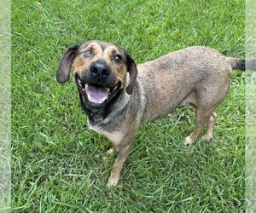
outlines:
{"label": "purplish-pink tongue inside the dog's open mouth", "polygon": [[86,89],[86,94],[88,96],[89,101],[94,103],[102,103],[103,101],[108,99],[108,88],[97,88],[89,85]]}

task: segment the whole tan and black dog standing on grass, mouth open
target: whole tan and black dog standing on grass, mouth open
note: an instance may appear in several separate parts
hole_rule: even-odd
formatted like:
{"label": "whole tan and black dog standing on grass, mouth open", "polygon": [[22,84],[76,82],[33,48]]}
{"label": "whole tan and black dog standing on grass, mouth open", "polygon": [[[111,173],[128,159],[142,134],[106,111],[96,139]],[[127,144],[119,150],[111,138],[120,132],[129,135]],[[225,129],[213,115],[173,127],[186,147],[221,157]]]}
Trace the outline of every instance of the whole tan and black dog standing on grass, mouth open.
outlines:
{"label": "whole tan and black dog standing on grass, mouth open", "polygon": [[191,145],[204,125],[204,141],[212,140],[215,109],[230,89],[232,70],[255,70],[256,60],[225,57],[217,50],[195,46],[138,64],[113,43],[87,41],[62,55],[56,79],[65,83],[73,70],[81,107],[91,130],[113,143],[117,158],[108,187],[119,183],[120,172],[139,126],[163,118],[184,104],[195,107],[195,129],[185,138]]}

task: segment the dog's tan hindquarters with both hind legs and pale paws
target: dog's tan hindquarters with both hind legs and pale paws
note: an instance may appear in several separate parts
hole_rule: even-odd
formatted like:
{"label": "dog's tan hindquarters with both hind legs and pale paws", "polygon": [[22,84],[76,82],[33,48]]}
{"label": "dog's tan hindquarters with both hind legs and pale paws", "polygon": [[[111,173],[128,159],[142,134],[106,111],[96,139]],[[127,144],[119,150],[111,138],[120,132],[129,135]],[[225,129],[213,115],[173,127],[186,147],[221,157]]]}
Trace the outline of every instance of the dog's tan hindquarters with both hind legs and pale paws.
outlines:
{"label": "dog's tan hindquarters with both hind legs and pale paws", "polygon": [[186,146],[189,146],[198,138],[204,125],[207,123],[207,134],[203,135],[203,139],[206,141],[211,140],[217,118],[217,114],[214,111],[224,101],[230,89],[229,74],[229,68],[223,68],[222,72],[212,72],[184,100],[184,102],[189,102],[195,107],[196,116],[195,130],[185,138],[184,144]]}

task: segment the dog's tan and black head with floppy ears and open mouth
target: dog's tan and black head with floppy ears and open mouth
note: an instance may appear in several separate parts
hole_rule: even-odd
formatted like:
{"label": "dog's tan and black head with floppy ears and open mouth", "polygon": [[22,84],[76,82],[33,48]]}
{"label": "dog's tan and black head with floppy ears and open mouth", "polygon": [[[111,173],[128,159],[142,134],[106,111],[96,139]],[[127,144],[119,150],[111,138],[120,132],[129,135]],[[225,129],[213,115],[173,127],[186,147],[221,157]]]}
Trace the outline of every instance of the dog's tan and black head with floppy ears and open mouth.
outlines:
{"label": "dog's tan and black head with floppy ears and open mouth", "polygon": [[124,49],[112,43],[88,41],[69,47],[61,59],[57,81],[65,83],[74,72],[82,101],[89,107],[105,107],[125,87],[131,95],[137,78],[137,65]]}

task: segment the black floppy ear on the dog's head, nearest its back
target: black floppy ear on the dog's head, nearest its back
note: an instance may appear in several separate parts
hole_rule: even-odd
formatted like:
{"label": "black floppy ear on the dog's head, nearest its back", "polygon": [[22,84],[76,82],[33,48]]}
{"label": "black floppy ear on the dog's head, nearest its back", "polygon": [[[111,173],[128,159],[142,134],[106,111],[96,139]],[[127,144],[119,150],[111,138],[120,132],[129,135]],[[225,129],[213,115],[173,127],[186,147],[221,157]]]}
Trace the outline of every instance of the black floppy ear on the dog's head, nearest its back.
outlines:
{"label": "black floppy ear on the dog's head, nearest its back", "polygon": [[131,95],[132,90],[135,86],[136,78],[137,78],[137,64],[135,60],[131,57],[131,55],[125,53],[126,55],[126,60],[127,60],[127,69],[130,75],[130,83],[126,88],[126,92]]}

